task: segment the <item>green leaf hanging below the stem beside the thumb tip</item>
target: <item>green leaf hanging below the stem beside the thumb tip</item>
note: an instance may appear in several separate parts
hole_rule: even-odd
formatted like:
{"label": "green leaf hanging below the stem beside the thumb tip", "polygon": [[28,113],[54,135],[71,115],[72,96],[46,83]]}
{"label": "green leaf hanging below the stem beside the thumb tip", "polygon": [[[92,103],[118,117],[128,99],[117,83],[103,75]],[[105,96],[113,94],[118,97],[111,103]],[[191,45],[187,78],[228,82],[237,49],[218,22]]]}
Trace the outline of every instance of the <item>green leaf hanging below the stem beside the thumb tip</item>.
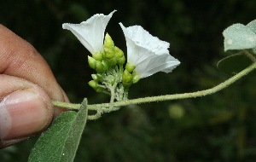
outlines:
{"label": "green leaf hanging below the stem beside the thumb tip", "polygon": [[87,100],[79,112],[61,113],[36,142],[28,161],[73,161],[87,119]]}

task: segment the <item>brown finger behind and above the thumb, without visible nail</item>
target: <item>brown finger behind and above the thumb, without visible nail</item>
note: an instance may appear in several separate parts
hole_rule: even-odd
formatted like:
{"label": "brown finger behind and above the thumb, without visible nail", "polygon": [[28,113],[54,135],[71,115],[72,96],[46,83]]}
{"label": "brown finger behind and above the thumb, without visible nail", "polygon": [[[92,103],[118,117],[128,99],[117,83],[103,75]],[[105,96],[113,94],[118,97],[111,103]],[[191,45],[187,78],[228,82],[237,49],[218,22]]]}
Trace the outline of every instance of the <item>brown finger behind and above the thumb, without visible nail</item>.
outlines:
{"label": "brown finger behind and above the thumb, without visible nail", "polygon": [[68,101],[38,51],[2,25],[0,25],[0,73],[38,84],[52,100]]}

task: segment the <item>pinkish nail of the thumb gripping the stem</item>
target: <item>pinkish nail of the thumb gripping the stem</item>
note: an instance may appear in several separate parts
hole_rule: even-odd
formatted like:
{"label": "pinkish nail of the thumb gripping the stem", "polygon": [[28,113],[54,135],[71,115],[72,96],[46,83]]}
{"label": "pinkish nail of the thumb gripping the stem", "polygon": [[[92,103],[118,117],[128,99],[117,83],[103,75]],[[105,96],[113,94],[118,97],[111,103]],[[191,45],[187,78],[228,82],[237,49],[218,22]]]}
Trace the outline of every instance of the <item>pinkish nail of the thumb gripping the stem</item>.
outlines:
{"label": "pinkish nail of the thumb gripping the stem", "polygon": [[36,90],[19,90],[0,102],[0,139],[26,137],[44,129],[51,119],[49,104]]}

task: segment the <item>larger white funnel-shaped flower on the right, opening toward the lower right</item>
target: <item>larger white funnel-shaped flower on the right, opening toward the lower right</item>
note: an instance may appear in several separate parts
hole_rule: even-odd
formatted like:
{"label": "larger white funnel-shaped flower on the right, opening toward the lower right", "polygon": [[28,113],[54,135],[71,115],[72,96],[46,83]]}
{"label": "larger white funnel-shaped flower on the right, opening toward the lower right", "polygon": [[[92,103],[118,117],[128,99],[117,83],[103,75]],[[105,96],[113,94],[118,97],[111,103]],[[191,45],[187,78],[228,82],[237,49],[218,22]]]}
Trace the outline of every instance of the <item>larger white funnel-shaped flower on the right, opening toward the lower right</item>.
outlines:
{"label": "larger white funnel-shaped flower on the right, opening toward the lower right", "polygon": [[153,37],[142,26],[121,26],[126,40],[127,61],[135,72],[146,78],[156,72],[172,72],[180,61],[169,54],[169,43]]}

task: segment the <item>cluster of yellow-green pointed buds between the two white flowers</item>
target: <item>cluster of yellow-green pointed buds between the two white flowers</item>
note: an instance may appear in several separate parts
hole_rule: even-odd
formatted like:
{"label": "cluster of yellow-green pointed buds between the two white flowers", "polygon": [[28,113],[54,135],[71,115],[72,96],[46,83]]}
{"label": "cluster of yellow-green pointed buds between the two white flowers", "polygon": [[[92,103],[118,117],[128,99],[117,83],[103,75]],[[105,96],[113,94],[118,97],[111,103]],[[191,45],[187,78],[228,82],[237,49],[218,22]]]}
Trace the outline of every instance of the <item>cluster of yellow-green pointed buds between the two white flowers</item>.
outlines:
{"label": "cluster of yellow-green pointed buds between the two white flowers", "polygon": [[104,39],[103,49],[88,56],[89,66],[96,70],[92,74],[89,85],[96,92],[105,92],[111,94],[112,87],[121,83],[123,65],[125,63],[124,52],[114,46],[112,38],[107,33]]}

